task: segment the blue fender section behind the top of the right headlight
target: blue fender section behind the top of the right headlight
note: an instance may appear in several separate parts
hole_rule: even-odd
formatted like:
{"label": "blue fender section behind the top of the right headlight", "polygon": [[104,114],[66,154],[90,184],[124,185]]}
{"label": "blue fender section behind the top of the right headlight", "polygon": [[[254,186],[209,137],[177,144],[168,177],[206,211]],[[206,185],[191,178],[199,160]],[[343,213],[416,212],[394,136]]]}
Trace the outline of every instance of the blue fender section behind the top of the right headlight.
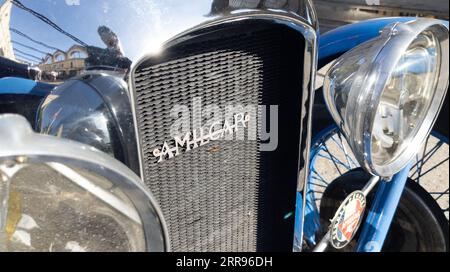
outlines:
{"label": "blue fender section behind the top of the right headlight", "polygon": [[319,68],[327,64],[330,57],[341,55],[361,43],[375,38],[385,26],[414,19],[414,17],[371,19],[341,26],[321,35],[319,38]]}

